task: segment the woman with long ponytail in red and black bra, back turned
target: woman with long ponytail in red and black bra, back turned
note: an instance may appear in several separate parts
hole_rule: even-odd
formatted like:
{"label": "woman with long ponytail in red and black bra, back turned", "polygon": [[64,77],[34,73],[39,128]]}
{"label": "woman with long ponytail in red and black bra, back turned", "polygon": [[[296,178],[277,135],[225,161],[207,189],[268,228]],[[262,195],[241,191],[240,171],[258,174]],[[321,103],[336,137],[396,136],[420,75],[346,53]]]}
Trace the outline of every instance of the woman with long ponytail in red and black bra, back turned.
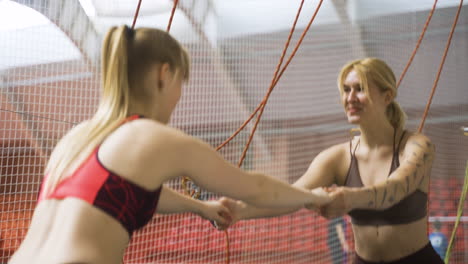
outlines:
{"label": "woman with long ponytail in red and black bra, back turned", "polygon": [[101,63],[98,109],[54,149],[28,233],[9,263],[122,263],[132,233],[154,213],[193,212],[229,224],[230,212],[219,201],[163,186],[179,176],[255,206],[330,200],[323,191],[242,171],[208,144],[167,126],[189,78],[189,56],[168,33],[113,27]]}

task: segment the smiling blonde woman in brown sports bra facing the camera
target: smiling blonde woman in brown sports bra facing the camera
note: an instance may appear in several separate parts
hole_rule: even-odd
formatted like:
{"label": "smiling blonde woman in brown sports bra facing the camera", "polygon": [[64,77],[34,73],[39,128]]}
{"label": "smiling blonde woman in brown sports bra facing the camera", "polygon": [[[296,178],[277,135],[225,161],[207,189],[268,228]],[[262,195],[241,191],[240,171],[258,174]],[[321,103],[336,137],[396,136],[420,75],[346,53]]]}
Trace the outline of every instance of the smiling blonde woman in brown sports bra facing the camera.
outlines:
{"label": "smiling blonde woman in brown sports bra facing the camera", "polygon": [[[405,129],[395,75],[380,59],[355,60],[341,69],[338,88],[348,122],[360,135],[318,154],[294,186],[326,186],[332,202],[319,213],[330,219],[351,216],[353,263],[443,263],[426,233],[434,146]],[[222,203],[232,212],[231,223],[299,208],[260,209],[228,198]]]}

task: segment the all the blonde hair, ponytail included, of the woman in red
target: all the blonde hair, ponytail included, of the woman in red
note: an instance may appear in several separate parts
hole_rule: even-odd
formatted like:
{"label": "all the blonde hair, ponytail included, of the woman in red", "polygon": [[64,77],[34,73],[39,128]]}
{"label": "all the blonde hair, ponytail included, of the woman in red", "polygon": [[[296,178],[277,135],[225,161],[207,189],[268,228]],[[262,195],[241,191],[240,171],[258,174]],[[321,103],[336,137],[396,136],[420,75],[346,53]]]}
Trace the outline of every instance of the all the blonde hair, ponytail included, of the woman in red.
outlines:
{"label": "all the blonde hair, ponytail included, of the woman in red", "polygon": [[151,66],[167,63],[175,76],[189,77],[189,56],[168,33],[150,28],[112,27],[101,55],[102,93],[94,116],[72,129],[53,151],[46,167],[48,194],[72,163],[80,164],[128,117],[132,100],[146,102],[143,85]]}

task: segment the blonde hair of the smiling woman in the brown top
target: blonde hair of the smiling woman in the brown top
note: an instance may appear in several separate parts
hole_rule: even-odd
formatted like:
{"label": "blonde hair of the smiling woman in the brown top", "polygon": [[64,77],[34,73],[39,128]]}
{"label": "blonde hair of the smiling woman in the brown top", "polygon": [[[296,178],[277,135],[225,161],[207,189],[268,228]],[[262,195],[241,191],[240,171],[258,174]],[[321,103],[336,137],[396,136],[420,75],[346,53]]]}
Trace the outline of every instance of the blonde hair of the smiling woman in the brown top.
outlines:
{"label": "blonde hair of the smiling woman in the brown top", "polygon": [[344,92],[343,83],[353,70],[358,75],[361,88],[367,95],[369,95],[369,79],[375,83],[380,92],[390,91],[392,93],[393,101],[387,106],[386,115],[393,127],[403,128],[406,122],[406,114],[395,101],[397,87],[392,69],[384,61],[377,58],[364,58],[347,63],[341,68],[338,75],[338,89],[341,95]]}

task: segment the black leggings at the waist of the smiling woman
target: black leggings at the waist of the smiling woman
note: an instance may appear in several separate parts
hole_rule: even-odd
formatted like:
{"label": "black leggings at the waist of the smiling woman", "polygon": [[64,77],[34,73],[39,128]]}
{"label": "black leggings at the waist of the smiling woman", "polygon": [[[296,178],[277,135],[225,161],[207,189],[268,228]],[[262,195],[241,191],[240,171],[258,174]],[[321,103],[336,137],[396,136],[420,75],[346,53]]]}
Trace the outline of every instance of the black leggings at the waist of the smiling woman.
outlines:
{"label": "black leggings at the waist of the smiling woman", "polygon": [[362,259],[356,254],[354,258],[354,264],[444,264],[440,256],[432,247],[431,243],[428,243],[422,249],[414,252],[413,254],[403,257],[399,260],[390,262],[372,262]]}

